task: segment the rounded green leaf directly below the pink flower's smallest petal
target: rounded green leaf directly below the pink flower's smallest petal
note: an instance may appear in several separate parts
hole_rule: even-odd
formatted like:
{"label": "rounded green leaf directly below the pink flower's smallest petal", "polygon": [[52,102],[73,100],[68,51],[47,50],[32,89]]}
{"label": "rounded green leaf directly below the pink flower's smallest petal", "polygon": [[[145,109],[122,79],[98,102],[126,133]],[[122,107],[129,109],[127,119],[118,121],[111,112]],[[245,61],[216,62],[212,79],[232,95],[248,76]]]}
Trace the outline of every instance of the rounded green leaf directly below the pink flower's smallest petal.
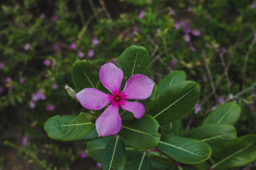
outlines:
{"label": "rounded green leaf directly below the pink flower's smallest petal", "polygon": [[158,145],[161,136],[158,128],[158,122],[145,114],[141,119],[123,121],[119,137],[133,148],[147,150]]}

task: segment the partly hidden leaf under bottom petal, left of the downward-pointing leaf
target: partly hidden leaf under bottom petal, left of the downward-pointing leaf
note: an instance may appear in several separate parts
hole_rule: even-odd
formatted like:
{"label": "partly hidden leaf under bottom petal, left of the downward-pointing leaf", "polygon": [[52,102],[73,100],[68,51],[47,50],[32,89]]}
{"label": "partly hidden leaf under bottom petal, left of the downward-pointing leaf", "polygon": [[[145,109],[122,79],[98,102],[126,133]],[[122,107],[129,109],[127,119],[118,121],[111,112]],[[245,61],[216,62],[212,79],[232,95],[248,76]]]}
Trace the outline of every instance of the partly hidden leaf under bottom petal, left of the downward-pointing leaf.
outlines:
{"label": "partly hidden leaf under bottom petal, left of the downward-pointing leaf", "polygon": [[106,145],[115,139],[113,136],[104,137],[87,143],[87,154],[97,162],[101,162]]}

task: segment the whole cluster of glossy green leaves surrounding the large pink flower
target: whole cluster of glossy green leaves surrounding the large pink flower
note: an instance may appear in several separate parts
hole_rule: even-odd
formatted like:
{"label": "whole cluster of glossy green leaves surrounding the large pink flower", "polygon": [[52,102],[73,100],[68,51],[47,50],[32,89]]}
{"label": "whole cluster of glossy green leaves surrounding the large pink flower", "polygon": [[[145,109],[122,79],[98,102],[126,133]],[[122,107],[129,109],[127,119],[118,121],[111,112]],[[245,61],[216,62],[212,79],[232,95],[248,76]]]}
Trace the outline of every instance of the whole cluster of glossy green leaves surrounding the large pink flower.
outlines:
{"label": "whole cluster of glossy green leaves surrounding the large pink flower", "polygon": [[[151,64],[147,61],[150,61],[147,50],[132,45],[121,54],[118,67],[127,80],[133,74],[151,73]],[[72,79],[77,92],[97,88],[100,83],[98,75],[88,69],[86,60],[73,64]],[[183,71],[173,71],[162,79],[148,99],[139,101],[146,114],[141,119],[122,117],[117,137],[98,137],[94,122],[87,117],[88,113],[82,112],[78,117],[53,116],[44,130],[50,138],[59,141],[89,141],[88,155],[101,162],[104,169],[125,169],[126,163],[129,163],[127,169],[159,169],[156,167],[159,163],[174,168],[174,163],[183,163],[193,164],[192,169],[229,169],[255,160],[256,135],[237,138],[233,126],[241,113],[236,103],[221,105],[201,126],[181,132],[181,118],[191,111],[200,96],[198,84],[185,79]],[[211,155],[213,164],[205,162]],[[201,166],[202,162],[205,167]]]}

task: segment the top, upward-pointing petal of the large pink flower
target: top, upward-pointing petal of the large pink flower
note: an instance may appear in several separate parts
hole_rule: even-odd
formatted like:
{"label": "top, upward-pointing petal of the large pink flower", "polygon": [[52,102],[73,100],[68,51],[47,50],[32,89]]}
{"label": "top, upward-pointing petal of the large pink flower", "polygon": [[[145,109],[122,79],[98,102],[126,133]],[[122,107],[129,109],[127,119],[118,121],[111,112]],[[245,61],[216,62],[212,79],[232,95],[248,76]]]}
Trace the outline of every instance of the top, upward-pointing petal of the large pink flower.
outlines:
{"label": "top, upward-pointing petal of the large pink flower", "polygon": [[123,71],[113,63],[105,63],[100,69],[100,79],[104,87],[112,94],[118,95],[123,79]]}

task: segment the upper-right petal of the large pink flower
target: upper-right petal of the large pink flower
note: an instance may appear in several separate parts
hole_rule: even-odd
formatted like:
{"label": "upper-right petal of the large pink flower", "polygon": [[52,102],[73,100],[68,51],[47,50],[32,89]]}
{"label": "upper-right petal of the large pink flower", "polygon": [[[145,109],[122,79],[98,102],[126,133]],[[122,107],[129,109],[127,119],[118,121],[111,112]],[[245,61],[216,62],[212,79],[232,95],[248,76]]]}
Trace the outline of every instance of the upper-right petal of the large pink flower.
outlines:
{"label": "upper-right petal of the large pink flower", "polygon": [[147,99],[152,94],[154,84],[148,76],[134,74],[125,83],[125,88],[123,88],[120,96],[122,99]]}

